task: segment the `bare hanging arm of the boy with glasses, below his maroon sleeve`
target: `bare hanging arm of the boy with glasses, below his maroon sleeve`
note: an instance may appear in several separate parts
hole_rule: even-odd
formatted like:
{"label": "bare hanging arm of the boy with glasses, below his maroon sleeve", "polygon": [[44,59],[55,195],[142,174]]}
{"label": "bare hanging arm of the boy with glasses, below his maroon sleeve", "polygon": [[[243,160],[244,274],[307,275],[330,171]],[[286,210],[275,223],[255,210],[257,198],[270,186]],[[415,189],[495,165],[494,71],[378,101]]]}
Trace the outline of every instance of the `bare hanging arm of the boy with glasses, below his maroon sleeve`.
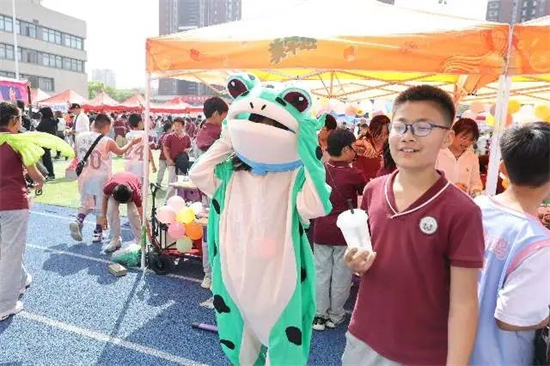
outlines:
{"label": "bare hanging arm of the boy with glasses, below his maroon sleeve", "polygon": [[479,269],[451,266],[447,365],[468,365],[478,319]]}

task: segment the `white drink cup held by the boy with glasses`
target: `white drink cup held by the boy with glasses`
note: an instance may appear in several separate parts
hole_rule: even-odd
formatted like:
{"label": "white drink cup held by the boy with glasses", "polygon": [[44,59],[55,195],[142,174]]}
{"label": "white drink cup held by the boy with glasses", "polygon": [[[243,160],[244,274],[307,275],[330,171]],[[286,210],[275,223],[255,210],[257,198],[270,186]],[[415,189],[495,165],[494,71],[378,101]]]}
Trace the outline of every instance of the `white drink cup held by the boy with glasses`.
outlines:
{"label": "white drink cup held by the boy with glasses", "polygon": [[336,226],[342,231],[348,247],[372,251],[368,219],[367,213],[357,208],[353,213],[347,210],[338,215]]}

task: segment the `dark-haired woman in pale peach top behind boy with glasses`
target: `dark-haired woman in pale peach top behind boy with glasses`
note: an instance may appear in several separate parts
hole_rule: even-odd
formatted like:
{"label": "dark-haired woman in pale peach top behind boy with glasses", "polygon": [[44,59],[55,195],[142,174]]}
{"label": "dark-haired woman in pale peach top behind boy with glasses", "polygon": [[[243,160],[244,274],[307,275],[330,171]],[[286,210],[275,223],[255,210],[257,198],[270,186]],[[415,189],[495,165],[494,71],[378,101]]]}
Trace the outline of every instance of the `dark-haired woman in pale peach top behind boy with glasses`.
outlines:
{"label": "dark-haired woman in pale peach top behind boy with glasses", "polygon": [[479,175],[479,159],[471,146],[479,138],[476,121],[461,118],[453,125],[455,138],[451,146],[441,150],[436,167],[466,194],[475,197],[483,191]]}

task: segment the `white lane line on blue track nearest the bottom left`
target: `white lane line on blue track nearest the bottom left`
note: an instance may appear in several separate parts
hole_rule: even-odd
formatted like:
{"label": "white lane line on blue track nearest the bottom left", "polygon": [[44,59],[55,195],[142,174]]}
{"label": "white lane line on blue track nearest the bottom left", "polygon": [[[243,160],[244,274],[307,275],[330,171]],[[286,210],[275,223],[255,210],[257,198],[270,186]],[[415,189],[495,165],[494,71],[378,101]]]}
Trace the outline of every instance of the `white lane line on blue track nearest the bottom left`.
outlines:
{"label": "white lane line on blue track nearest the bottom left", "polygon": [[61,329],[61,330],[67,331],[67,332],[75,333],[75,334],[78,334],[79,336],[90,338],[90,339],[93,339],[93,340],[96,340],[96,341],[99,341],[99,342],[111,343],[111,344],[114,344],[114,345],[117,345],[117,346],[121,346],[121,347],[124,347],[124,348],[131,349],[133,351],[136,351],[136,352],[139,352],[139,353],[142,353],[142,354],[145,354],[145,355],[149,355],[149,356],[153,356],[153,357],[157,357],[157,358],[162,358],[166,361],[175,362],[175,363],[180,364],[180,365],[205,365],[205,364],[201,364],[199,362],[195,362],[193,360],[190,360],[190,359],[187,359],[187,358],[184,358],[184,357],[179,357],[179,356],[172,355],[170,353],[161,351],[161,350],[156,349],[156,348],[147,347],[147,346],[144,346],[144,345],[141,345],[141,344],[138,344],[138,343],[126,341],[122,338],[114,337],[114,336],[111,336],[109,334],[100,333],[100,332],[96,332],[96,331],[93,331],[93,330],[80,328],[80,327],[77,327],[77,326],[74,326],[74,325],[71,325],[71,324],[60,322],[58,320],[47,318],[47,317],[42,316],[42,315],[29,313],[27,311],[22,311],[17,316],[21,316],[23,318],[26,318],[26,319],[29,319],[29,320],[32,320],[32,321],[35,321],[35,322],[39,322],[39,323],[42,323],[42,324],[45,324],[45,325],[49,325],[50,327]]}

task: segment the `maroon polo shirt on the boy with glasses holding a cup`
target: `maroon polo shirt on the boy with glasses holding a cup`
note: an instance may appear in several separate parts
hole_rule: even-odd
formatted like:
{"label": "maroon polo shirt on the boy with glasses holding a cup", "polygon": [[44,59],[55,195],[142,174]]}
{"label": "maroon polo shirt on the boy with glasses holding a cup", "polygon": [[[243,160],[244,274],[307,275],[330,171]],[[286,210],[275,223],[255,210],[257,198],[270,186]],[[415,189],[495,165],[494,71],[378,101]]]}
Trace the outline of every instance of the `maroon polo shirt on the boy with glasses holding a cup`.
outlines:
{"label": "maroon polo shirt on the boy with glasses holding a cup", "polygon": [[389,360],[444,365],[450,267],[483,267],[481,211],[439,172],[397,212],[397,173],[372,180],[363,194],[377,256],[361,279],[349,331]]}

